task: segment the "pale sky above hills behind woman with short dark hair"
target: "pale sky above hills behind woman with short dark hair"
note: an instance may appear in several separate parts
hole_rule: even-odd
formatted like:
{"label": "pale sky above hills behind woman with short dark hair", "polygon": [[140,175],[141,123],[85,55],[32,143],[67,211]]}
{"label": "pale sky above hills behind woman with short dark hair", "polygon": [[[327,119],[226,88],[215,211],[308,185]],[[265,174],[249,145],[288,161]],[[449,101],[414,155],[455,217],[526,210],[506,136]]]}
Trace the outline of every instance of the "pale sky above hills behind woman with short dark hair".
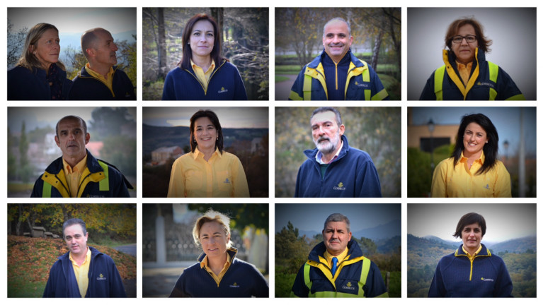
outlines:
{"label": "pale sky above hills behind woman with short dark hair", "polygon": [[407,232],[417,237],[434,235],[455,239],[460,217],[479,213],[486,220],[483,240],[506,241],[536,235],[535,203],[408,203]]}

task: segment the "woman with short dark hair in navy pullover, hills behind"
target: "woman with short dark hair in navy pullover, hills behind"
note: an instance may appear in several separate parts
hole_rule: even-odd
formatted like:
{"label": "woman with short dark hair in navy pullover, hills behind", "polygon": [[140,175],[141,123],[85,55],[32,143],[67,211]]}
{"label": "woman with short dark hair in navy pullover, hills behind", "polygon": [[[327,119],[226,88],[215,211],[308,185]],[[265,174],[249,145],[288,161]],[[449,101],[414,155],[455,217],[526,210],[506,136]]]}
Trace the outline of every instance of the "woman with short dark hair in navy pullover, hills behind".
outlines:
{"label": "woman with short dark hair in navy pullover, hills behind", "polygon": [[455,253],[441,258],[428,297],[513,297],[513,282],[503,260],[481,244],[486,233],[482,215],[467,213],[454,237],[462,239]]}

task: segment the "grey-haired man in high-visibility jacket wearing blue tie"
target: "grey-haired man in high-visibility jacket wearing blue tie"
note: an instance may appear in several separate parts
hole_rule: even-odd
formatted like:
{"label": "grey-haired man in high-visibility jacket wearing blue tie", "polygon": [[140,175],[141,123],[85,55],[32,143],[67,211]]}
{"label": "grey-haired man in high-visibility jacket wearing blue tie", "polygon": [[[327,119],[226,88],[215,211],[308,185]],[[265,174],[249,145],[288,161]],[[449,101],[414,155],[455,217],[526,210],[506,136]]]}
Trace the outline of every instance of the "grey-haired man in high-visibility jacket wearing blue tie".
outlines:
{"label": "grey-haired man in high-visibility jacket wearing blue tie", "polygon": [[349,219],[329,215],[316,245],[299,269],[290,297],[388,297],[381,272],[351,240]]}

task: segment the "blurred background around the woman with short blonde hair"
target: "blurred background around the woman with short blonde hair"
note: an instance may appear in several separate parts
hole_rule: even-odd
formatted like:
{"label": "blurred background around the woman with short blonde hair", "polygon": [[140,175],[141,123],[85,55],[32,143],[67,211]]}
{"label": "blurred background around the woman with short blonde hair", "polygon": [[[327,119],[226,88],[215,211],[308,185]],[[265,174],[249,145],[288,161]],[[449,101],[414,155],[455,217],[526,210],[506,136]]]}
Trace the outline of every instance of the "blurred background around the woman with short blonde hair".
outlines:
{"label": "blurred background around the woman with short blonde hair", "polygon": [[209,209],[230,217],[236,258],[256,265],[269,283],[267,203],[144,203],[143,297],[168,297],[183,270],[198,262],[203,251],[193,227]]}

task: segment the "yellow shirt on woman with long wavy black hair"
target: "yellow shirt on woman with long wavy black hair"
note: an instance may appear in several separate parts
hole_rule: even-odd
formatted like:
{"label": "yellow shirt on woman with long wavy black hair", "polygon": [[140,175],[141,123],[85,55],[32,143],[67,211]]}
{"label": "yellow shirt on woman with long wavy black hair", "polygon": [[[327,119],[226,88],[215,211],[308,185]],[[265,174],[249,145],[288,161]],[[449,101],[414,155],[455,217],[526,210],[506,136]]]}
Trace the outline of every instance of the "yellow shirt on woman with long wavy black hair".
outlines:
{"label": "yellow shirt on woman with long wavy black hair", "polygon": [[475,174],[483,165],[484,152],[470,169],[464,153],[457,165],[453,162],[450,157],[435,167],[431,197],[511,197],[511,178],[501,161],[496,160],[496,165],[484,174]]}

